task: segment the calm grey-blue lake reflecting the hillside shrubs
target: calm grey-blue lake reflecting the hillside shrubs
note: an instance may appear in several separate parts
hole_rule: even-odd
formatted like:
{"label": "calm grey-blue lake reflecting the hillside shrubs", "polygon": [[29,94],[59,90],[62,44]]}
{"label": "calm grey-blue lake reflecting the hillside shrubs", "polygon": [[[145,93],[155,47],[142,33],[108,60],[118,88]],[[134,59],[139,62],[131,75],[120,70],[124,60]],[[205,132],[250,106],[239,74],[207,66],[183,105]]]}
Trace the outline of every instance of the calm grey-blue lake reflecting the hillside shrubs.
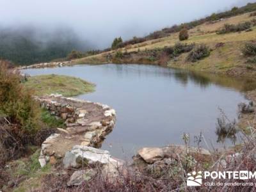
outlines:
{"label": "calm grey-blue lake reflecting the hillside shrubs", "polygon": [[190,135],[191,145],[200,132],[210,147],[231,145],[231,141],[216,143],[216,118],[220,109],[230,120],[237,118],[237,104],[246,102],[243,91],[255,88],[244,79],[152,65],[75,65],[23,72],[61,74],[95,83],[95,92],[77,97],[116,110],[115,128],[102,148],[120,158],[131,157],[141,147],[184,144],[184,132]]}

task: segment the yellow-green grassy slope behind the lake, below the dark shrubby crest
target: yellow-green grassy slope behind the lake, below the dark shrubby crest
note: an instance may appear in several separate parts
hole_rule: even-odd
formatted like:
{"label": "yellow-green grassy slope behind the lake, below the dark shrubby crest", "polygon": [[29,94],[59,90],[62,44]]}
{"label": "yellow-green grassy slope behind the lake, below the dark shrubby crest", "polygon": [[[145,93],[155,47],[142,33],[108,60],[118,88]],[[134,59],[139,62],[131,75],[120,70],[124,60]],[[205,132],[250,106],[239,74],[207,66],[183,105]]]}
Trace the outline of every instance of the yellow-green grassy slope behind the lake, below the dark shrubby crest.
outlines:
{"label": "yellow-green grassy slope behind the lake, below the dark shrubby crest", "polygon": [[[246,42],[256,40],[256,27],[252,26],[252,31],[241,31],[236,33],[227,33],[217,35],[216,31],[223,28],[225,24],[239,24],[256,19],[251,13],[244,13],[227,19],[214,22],[205,22],[195,28],[189,29],[189,39],[182,41],[182,44],[205,44],[211,49],[209,57],[199,60],[195,63],[186,60],[189,52],[168,58],[166,65],[168,67],[188,68],[190,70],[200,70],[205,72],[214,72],[228,74],[232,76],[254,76],[256,67],[246,64],[246,58],[241,52],[241,48]],[[164,47],[172,47],[179,41],[179,33],[170,33],[170,35],[154,40],[147,40],[139,44],[126,45],[124,48],[102,52],[94,56],[88,56],[73,63],[110,63],[116,62],[116,52],[122,52],[123,58],[116,63],[151,63],[161,64],[159,60],[152,61],[149,54],[154,50],[161,50]],[[129,55],[129,57],[125,56]],[[124,59],[125,58],[125,59]],[[129,59],[127,59],[129,58]]]}

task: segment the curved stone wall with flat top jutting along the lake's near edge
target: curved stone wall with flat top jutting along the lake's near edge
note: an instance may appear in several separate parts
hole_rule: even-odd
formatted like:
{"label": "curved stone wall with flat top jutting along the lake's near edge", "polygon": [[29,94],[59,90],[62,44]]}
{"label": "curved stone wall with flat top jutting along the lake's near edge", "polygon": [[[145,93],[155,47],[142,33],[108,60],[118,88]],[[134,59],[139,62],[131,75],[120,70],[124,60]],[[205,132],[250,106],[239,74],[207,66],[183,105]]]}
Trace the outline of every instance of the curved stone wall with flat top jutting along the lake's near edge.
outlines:
{"label": "curved stone wall with flat top jutting along the lake's near edge", "polygon": [[75,145],[99,147],[115,125],[115,110],[104,104],[62,95],[47,95],[35,99],[52,115],[66,120],[67,125],[67,129],[57,129],[42,144],[39,158],[41,166],[50,157],[63,158]]}

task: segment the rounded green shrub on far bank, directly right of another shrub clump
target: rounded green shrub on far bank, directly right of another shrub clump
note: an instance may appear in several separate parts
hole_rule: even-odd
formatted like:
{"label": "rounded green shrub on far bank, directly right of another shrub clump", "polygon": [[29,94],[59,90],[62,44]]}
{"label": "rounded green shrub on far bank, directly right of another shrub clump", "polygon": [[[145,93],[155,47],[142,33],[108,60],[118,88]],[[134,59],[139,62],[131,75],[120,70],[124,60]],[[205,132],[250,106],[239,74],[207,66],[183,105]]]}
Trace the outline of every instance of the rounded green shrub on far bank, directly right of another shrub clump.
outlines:
{"label": "rounded green shrub on far bank, directly right of another shrub clump", "polygon": [[188,61],[196,62],[210,55],[209,47],[205,44],[196,46],[191,52],[189,52]]}

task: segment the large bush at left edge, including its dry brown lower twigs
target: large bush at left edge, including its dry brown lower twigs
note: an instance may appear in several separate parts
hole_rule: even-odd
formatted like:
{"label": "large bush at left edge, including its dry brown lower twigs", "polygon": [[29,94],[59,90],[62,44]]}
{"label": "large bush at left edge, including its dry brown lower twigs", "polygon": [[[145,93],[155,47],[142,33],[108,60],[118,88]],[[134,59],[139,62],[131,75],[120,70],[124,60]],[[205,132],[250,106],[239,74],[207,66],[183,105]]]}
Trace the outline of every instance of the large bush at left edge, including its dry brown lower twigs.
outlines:
{"label": "large bush at left edge, including its dry brown lower twigs", "polygon": [[20,83],[19,72],[7,65],[0,61],[0,166],[24,154],[27,146],[36,142],[37,134],[44,137],[40,105],[33,92]]}

